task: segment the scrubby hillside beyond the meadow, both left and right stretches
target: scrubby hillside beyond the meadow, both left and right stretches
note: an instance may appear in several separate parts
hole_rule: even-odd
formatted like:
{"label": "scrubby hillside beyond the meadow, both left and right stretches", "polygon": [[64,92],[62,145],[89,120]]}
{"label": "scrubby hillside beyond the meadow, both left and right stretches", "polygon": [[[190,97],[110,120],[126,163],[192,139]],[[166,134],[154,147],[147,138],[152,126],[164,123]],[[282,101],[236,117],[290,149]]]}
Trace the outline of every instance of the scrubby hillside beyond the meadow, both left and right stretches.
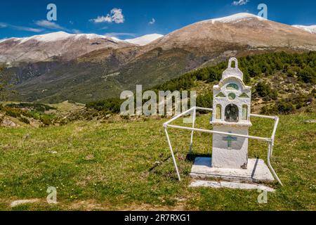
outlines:
{"label": "scrubby hillside beyond the meadow, both left and right stretches", "polygon": [[[316,53],[288,54],[266,53],[239,58],[239,68],[244,72],[244,82],[252,87],[251,112],[261,114],[293,114],[315,112],[316,109]],[[218,63],[187,72],[164,84],[152,86],[153,91],[197,91],[197,105],[213,106],[213,85],[217,84],[227,63]],[[144,90],[145,91],[145,90]],[[75,93],[74,93],[75,94]],[[12,127],[26,123],[33,127],[62,125],[77,120],[111,120],[119,114],[119,98],[106,98],[84,105],[74,102],[58,104],[6,103],[0,105],[0,124]],[[61,110],[59,110],[61,106]],[[51,110],[51,107],[56,110]],[[65,110],[68,109],[68,110]],[[115,119],[114,119],[115,118]],[[118,119],[118,120],[117,120]],[[131,118],[134,120],[137,118]],[[4,122],[3,122],[4,121]]]}

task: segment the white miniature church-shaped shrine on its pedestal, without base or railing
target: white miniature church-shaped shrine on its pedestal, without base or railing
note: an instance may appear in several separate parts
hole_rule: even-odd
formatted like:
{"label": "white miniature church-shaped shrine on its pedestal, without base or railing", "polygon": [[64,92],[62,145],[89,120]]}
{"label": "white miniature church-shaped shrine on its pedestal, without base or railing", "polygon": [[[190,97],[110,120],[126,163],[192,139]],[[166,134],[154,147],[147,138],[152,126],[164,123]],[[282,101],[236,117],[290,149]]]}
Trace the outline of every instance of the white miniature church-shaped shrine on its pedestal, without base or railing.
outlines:
{"label": "white miniature church-shaped shrine on its pedestal, without base or railing", "polygon": [[[235,67],[232,67],[235,62]],[[248,135],[251,108],[251,87],[243,82],[236,58],[230,58],[228,68],[218,85],[213,86],[214,131]],[[247,169],[248,139],[213,134],[212,167]]]}

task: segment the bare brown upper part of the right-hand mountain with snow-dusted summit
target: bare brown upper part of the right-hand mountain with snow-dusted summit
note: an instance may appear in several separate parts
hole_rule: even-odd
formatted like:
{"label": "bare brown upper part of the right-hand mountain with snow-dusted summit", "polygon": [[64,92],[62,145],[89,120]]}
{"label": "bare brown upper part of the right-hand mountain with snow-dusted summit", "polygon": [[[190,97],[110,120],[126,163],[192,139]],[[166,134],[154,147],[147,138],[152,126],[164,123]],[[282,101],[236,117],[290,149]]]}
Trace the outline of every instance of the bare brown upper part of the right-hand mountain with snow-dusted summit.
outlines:
{"label": "bare brown upper part of the right-hand mountain with snow-dusted summit", "polygon": [[[197,49],[213,52],[229,45],[247,49],[316,50],[316,38],[292,26],[276,23],[250,13],[204,20],[165,35],[150,44],[152,48]],[[149,47],[150,48],[150,47]]]}

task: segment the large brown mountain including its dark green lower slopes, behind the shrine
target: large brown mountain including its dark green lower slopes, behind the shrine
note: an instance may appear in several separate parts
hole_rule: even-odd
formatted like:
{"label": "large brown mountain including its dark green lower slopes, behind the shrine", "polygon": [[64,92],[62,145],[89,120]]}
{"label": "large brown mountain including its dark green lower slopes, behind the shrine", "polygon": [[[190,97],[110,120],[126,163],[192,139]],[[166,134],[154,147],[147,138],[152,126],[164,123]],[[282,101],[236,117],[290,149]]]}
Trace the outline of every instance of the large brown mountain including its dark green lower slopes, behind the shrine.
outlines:
{"label": "large brown mountain including its dark green lower slopes, behind the shrine", "polygon": [[[20,93],[14,99],[86,103],[117,97],[122,90],[135,90],[136,84],[144,89],[162,84],[232,56],[316,51],[315,34],[249,13],[194,23],[144,46],[104,41],[112,47],[80,53],[73,60],[57,58],[6,69]],[[17,45],[12,44],[13,49]]]}

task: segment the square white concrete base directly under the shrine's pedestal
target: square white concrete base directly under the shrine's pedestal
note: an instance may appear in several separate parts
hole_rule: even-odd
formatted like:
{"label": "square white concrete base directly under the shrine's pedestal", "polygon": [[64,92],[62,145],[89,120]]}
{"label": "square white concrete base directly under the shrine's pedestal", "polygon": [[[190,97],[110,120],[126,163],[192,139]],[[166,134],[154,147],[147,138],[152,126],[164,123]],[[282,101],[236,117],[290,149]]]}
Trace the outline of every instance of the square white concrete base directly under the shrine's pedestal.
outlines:
{"label": "square white concrete base directly under the shrine's pedestal", "polygon": [[249,159],[247,169],[223,169],[211,167],[211,158],[195,158],[190,176],[193,178],[219,178],[226,181],[272,183],[275,181],[263,160]]}

